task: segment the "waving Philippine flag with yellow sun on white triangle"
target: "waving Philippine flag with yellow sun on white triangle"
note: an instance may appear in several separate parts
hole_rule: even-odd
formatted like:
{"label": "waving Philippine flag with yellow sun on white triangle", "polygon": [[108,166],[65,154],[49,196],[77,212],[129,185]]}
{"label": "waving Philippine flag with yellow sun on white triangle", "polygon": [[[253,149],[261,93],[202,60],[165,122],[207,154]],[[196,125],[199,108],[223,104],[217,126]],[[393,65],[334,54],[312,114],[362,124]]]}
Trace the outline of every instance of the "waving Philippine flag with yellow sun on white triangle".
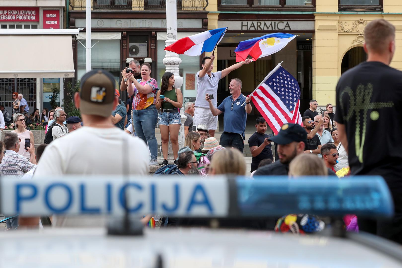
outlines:
{"label": "waving Philippine flag with yellow sun on white triangle", "polygon": [[236,61],[244,61],[248,55],[255,61],[258,58],[271,55],[283,49],[296,35],[290,33],[270,33],[241,41],[236,47]]}

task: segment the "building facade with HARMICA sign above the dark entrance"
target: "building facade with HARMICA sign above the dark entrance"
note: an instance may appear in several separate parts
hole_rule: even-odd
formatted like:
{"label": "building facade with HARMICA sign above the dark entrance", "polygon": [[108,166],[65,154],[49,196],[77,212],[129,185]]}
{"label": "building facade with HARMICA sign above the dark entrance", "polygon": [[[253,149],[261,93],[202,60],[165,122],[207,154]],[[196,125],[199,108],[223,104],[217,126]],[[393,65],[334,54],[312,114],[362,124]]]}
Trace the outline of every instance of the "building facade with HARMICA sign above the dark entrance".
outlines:
{"label": "building facade with HARMICA sign above the dark entrance", "polygon": [[[297,36],[281,51],[260,58],[231,72],[218,87],[218,103],[229,95],[229,82],[239,78],[243,94],[249,94],[281,61],[299,83],[301,105],[312,98],[312,37],[315,0],[215,0],[209,1],[208,29],[228,27],[215,51],[215,70],[236,63],[234,49],[240,41],[267,33],[292,33]],[[258,110],[252,113],[258,115]]]}

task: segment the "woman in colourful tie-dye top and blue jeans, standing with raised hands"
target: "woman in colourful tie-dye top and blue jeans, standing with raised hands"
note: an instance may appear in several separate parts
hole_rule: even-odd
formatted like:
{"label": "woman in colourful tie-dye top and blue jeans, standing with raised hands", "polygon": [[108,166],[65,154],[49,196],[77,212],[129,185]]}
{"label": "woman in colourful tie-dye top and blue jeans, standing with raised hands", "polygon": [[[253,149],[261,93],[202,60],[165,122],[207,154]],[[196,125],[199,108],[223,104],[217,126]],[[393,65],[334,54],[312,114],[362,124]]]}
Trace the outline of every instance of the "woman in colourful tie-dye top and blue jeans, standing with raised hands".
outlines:
{"label": "woman in colourful tie-dye top and blue jeans, standing with raised hands", "polygon": [[133,97],[133,126],[135,133],[148,144],[151,152],[150,166],[157,166],[158,142],[155,137],[155,126],[158,111],[155,108],[158,84],[151,78],[151,65],[141,65],[142,79],[135,79],[128,73],[127,78],[132,82],[127,85],[127,93]]}

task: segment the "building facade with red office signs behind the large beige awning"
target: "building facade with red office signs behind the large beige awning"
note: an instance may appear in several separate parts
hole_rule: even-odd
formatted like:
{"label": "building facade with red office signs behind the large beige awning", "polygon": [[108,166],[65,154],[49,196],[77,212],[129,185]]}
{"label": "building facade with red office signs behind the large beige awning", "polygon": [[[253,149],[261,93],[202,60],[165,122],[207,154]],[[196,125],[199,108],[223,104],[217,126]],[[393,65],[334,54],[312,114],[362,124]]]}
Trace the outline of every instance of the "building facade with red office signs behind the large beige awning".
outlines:
{"label": "building facade with red office signs behind the large beige awning", "polygon": [[[64,0],[0,0],[1,29],[63,29]],[[1,47],[1,45],[0,45]],[[27,60],[22,65],[35,64],[29,61],[31,51],[26,47]],[[12,93],[24,95],[30,113],[33,108],[50,108],[53,91],[63,91],[63,79],[60,78],[0,78],[0,105],[11,113]],[[60,103],[60,98],[56,102]]]}

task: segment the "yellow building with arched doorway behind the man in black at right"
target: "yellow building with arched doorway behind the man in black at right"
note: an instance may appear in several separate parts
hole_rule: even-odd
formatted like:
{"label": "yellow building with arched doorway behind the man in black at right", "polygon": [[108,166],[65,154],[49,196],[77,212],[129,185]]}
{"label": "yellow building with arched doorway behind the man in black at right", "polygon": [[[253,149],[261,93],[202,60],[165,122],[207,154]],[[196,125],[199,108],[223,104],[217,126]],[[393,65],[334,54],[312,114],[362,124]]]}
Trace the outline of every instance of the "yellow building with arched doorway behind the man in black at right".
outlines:
{"label": "yellow building with arched doorway behind the man in black at right", "polygon": [[[344,2],[349,6],[342,5]],[[366,5],[350,5],[353,3]],[[316,0],[314,15],[312,93],[319,104],[336,105],[339,77],[365,61],[363,34],[371,20],[383,18],[396,27],[396,53],[391,66],[402,70],[402,1]]]}

